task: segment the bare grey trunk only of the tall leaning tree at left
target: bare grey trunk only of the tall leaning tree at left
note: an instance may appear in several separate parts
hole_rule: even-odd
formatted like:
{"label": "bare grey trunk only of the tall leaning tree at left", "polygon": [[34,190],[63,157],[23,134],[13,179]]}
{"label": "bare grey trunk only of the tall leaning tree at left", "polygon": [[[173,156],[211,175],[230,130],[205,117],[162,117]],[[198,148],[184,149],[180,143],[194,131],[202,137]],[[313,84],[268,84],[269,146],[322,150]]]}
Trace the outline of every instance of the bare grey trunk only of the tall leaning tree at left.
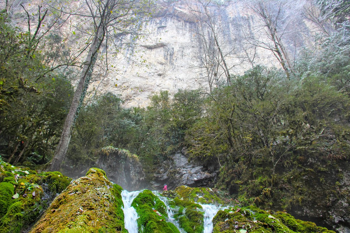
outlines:
{"label": "bare grey trunk only of the tall leaning tree at left", "polygon": [[85,97],[82,95],[84,94],[84,86],[85,86],[86,78],[88,77],[89,73],[90,75],[92,73],[93,61],[95,56],[97,56],[96,53],[103,42],[103,39],[105,36],[104,31],[105,31],[105,28],[103,25],[103,20],[101,20],[101,23],[98,25],[96,35],[94,36],[92,44],[90,46],[89,53],[87,54],[85,64],[83,66],[83,70],[80,73],[80,80],[79,80],[77,89],[74,93],[72,104],[70,105],[68,115],[65,119],[61,138],[59,139],[59,143],[58,143],[55,155],[50,161],[49,166],[45,169],[47,171],[55,171],[61,168],[61,164],[68,150],[68,146],[71,138],[71,130],[73,128],[80,99],[84,99]]}

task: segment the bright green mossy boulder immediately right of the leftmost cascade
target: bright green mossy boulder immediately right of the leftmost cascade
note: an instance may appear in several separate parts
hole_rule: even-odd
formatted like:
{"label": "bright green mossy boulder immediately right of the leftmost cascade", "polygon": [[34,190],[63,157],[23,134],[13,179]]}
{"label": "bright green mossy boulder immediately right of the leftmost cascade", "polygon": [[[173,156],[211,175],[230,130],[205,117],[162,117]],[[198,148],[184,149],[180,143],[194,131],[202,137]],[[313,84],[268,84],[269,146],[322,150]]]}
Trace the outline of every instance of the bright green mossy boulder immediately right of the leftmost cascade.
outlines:
{"label": "bright green mossy boulder immediately right of the leftmost cascade", "polygon": [[167,222],[166,206],[152,191],[141,192],[132,206],[140,216],[137,220],[139,232],[180,233],[174,224]]}

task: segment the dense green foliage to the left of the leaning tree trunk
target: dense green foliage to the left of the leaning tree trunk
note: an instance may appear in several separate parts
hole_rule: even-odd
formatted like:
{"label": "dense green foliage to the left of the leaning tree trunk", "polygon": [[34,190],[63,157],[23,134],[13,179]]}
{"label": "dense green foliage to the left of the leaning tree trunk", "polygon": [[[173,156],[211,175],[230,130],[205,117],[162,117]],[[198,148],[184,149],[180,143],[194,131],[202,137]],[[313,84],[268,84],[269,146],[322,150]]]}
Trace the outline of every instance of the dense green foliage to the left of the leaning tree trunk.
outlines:
{"label": "dense green foliage to the left of the leaning tree trunk", "polygon": [[55,149],[72,93],[49,72],[29,36],[0,14],[0,153],[13,164],[46,163]]}

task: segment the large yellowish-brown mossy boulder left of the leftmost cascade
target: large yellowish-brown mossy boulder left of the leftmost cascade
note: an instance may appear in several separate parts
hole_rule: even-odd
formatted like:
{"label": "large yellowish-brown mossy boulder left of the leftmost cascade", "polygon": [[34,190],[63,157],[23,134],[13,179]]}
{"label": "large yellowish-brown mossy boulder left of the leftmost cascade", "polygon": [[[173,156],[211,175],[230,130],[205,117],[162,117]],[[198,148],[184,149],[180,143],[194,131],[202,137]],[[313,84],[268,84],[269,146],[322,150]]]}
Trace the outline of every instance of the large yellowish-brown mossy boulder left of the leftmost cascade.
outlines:
{"label": "large yellowish-brown mossy boulder left of the leftmost cascade", "polygon": [[121,188],[91,168],[51,203],[30,233],[124,232]]}

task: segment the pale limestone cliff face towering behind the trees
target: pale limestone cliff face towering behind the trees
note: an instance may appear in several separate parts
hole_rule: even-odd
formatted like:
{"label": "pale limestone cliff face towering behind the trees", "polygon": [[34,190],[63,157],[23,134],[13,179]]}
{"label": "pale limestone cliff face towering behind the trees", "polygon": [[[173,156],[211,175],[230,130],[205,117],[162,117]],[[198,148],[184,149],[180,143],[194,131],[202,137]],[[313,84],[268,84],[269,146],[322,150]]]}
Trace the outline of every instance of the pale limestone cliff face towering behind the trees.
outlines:
{"label": "pale limestone cliff face towering behind the trees", "polygon": [[[206,52],[201,34],[210,41],[211,31],[191,11],[196,6],[189,5],[188,1],[157,3],[158,9],[141,30],[142,37],[121,36],[131,44],[110,62],[110,79],[94,83],[94,87],[99,87],[100,91],[121,94],[129,107],[147,105],[149,96],[160,90],[169,90],[174,94],[180,88],[209,88],[207,71],[202,64]],[[302,32],[310,28],[317,31],[315,25],[302,20],[301,9],[296,9],[298,3],[293,4],[295,6],[283,9],[283,13],[295,16],[297,12],[299,15],[295,19],[281,17],[278,22],[281,30],[279,36],[292,61],[295,50],[313,40],[312,37],[306,39]],[[280,66],[271,50],[265,48],[272,42],[266,28],[260,27],[262,19],[246,3],[230,1],[209,8],[231,76],[243,73],[253,64]],[[248,42],[252,37],[255,42],[261,43],[260,46]],[[221,66],[218,65],[216,75],[218,82],[225,83]]]}

